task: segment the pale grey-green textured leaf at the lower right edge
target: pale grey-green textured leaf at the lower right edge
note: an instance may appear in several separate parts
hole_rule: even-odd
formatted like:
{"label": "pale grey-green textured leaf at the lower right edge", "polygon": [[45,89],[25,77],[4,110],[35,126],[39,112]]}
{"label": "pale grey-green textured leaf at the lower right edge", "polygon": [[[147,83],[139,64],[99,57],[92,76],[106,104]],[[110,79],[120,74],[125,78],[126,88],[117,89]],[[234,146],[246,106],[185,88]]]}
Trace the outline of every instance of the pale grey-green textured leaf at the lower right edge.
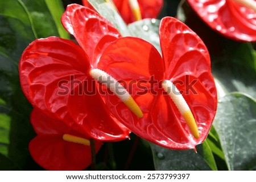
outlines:
{"label": "pale grey-green textured leaf at the lower right edge", "polygon": [[239,92],[224,96],[213,125],[229,170],[256,170],[256,101]]}

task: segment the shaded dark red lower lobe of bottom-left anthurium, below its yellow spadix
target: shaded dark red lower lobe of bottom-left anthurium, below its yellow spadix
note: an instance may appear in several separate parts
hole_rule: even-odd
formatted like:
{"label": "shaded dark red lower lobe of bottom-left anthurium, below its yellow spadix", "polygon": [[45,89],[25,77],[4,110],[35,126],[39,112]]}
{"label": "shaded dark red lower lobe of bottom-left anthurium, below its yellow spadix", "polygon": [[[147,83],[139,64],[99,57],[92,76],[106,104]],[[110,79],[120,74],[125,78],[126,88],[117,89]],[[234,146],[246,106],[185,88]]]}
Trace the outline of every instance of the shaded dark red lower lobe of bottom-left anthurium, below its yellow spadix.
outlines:
{"label": "shaded dark red lower lobe of bottom-left anthurium, below its yellow spadix", "polygon": [[[95,141],[95,145],[98,152],[102,142]],[[84,170],[92,161],[90,146],[64,141],[58,135],[36,136],[28,149],[46,170]]]}

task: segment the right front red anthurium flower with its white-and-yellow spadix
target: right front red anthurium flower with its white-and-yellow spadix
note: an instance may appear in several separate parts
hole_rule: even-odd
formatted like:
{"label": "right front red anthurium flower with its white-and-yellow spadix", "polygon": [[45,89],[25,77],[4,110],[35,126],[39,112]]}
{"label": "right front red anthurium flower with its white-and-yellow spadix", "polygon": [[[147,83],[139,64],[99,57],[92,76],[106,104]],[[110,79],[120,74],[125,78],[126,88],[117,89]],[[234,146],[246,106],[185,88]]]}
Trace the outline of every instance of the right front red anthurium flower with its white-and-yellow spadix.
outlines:
{"label": "right front red anthurium flower with its white-and-yellow spadix", "polygon": [[146,41],[118,39],[98,64],[125,81],[143,117],[135,117],[111,95],[105,100],[138,136],[170,149],[195,149],[207,137],[217,109],[209,53],[196,33],[175,18],[162,19],[159,35],[163,58]]}

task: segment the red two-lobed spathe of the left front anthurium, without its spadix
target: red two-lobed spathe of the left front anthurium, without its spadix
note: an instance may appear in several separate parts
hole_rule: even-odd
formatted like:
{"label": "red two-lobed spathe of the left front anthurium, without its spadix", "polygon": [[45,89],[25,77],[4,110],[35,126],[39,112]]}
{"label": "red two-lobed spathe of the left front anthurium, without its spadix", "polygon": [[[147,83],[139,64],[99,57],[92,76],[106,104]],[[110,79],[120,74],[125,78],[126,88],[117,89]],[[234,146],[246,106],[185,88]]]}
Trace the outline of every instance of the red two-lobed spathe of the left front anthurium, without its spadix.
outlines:
{"label": "red two-lobed spathe of the left front anthurium, without its spadix", "polygon": [[19,62],[24,95],[44,115],[90,138],[128,138],[130,130],[111,115],[89,73],[105,47],[120,36],[117,29],[79,5],[69,5],[62,21],[80,46],[59,37],[33,41]]}

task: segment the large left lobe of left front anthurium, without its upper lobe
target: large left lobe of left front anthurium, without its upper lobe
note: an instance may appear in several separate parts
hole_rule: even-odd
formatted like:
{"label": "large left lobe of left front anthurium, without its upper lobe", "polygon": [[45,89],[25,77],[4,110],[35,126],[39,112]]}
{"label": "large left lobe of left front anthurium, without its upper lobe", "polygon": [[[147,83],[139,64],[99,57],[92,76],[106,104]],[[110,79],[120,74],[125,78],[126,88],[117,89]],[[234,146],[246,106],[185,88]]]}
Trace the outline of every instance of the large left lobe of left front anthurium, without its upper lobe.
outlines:
{"label": "large left lobe of left front anthurium, without its upper lobe", "polygon": [[72,41],[58,37],[35,40],[20,59],[22,90],[45,115],[89,137],[102,141],[129,137],[129,130],[110,115],[97,93],[88,77],[89,67],[88,57]]}

